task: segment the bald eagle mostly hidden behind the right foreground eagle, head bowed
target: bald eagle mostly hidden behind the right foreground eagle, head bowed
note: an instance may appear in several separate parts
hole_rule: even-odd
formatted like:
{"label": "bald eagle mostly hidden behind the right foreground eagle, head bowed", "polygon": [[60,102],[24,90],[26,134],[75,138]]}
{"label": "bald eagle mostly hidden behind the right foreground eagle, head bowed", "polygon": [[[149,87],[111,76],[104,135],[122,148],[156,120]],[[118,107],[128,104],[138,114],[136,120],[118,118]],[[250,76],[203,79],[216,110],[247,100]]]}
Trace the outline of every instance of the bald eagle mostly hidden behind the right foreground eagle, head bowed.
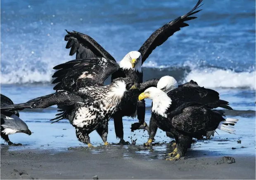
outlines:
{"label": "bald eagle mostly hidden behind the right foreground eagle, head bowed", "polygon": [[[172,76],[163,76],[159,79],[159,81],[157,82],[157,86],[158,89],[164,91],[165,93],[170,92],[170,94],[173,94],[173,92],[171,92],[171,90],[175,89],[175,88],[182,88],[182,87],[190,87],[190,88],[201,88],[197,82],[191,80],[187,83],[178,85],[177,81],[175,80],[175,78],[173,78]],[[232,110],[232,108],[230,106],[228,106],[228,102],[221,100],[218,98],[218,96],[216,95],[216,92],[214,92],[213,94],[215,94],[216,98],[212,98],[211,95],[212,94],[206,94],[205,97],[203,98],[199,98],[198,94],[193,94],[190,96],[189,99],[185,100],[185,102],[200,102],[203,104],[216,104],[216,107],[222,107],[222,108],[226,108],[229,110]],[[157,131],[157,126],[154,123],[154,116],[152,115],[149,121],[149,140],[147,141],[147,143],[144,143],[145,146],[151,146],[152,145],[152,141],[154,140],[154,136],[156,135],[156,131]],[[214,134],[214,131],[211,132],[207,132],[206,133],[206,137],[210,138],[211,135]],[[173,138],[173,135],[170,132],[166,132],[166,136]],[[198,137],[198,138],[202,138],[202,137]]]}

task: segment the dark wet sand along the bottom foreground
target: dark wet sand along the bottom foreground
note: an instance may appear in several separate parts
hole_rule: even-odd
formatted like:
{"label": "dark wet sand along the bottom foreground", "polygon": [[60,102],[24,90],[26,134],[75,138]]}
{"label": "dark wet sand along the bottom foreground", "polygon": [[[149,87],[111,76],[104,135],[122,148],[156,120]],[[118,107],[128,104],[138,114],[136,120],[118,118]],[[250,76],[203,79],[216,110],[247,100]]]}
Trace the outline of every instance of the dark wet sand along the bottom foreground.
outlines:
{"label": "dark wet sand along the bottom foreground", "polygon": [[[168,149],[167,151],[170,151]],[[144,153],[149,151],[150,153]],[[1,145],[1,179],[255,179],[255,155],[224,155],[193,150],[187,159],[162,160],[166,152],[141,145],[9,151]]]}

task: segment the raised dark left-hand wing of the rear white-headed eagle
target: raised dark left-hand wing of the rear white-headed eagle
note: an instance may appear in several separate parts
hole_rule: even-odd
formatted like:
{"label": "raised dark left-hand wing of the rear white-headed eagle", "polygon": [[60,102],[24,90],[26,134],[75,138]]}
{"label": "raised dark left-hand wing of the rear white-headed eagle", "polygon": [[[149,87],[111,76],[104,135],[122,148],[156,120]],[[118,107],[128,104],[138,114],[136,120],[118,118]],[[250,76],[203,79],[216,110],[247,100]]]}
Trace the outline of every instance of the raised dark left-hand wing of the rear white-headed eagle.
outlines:
{"label": "raised dark left-hand wing of the rear white-headed eagle", "polygon": [[65,36],[66,48],[70,49],[69,55],[76,53],[76,59],[103,57],[115,61],[115,59],[94,39],[80,32],[69,32]]}

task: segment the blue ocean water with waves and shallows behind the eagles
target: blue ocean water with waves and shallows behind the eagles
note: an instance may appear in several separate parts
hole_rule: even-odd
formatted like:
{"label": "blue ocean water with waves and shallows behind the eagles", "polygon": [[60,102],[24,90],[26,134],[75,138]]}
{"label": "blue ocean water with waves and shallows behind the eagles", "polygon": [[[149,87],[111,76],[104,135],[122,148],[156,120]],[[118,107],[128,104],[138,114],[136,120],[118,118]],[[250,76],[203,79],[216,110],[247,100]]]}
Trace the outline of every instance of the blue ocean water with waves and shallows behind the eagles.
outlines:
{"label": "blue ocean water with waves and shallows behind the eagles", "polygon": [[[217,131],[219,135],[195,143],[192,149],[255,153],[255,1],[203,2],[198,18],[188,21],[190,26],[176,32],[149,56],[142,66],[144,80],[171,75],[179,83],[192,79],[217,90],[234,109],[227,116],[239,119],[236,134]],[[65,48],[64,29],[90,35],[119,61],[129,51],[138,50],[154,30],[186,14],[196,3],[197,0],[1,0],[1,93],[14,103],[21,103],[54,92],[52,67],[75,59]],[[151,102],[146,104],[149,123]],[[55,113],[55,106],[22,111],[20,117],[33,134],[14,134],[11,141],[25,144],[18,149],[80,146],[67,120],[50,124]],[[142,145],[148,135],[142,130],[130,132],[133,122],[137,120],[123,118],[125,139],[137,138],[137,144]],[[94,145],[102,143],[96,132],[90,137]],[[242,144],[237,143],[238,139]],[[108,141],[119,141],[112,120]],[[156,142],[166,141],[170,139],[159,129]]]}

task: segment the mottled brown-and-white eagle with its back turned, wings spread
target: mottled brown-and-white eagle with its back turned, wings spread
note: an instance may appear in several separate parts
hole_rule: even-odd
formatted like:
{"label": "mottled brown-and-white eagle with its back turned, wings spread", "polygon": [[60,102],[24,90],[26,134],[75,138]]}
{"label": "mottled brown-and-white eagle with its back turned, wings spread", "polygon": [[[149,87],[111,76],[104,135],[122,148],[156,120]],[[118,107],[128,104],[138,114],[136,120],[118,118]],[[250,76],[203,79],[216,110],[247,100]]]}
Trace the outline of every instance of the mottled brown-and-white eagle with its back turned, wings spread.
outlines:
{"label": "mottled brown-and-white eagle with its back turned, wings spread", "polygon": [[[84,64],[86,70],[81,71],[80,68],[83,67],[81,65]],[[57,114],[59,116],[55,120],[68,119],[75,127],[79,141],[92,147],[89,134],[96,130],[104,145],[107,145],[108,121],[119,110],[122,99],[133,96],[133,90],[136,90],[133,81],[129,78],[116,78],[110,85],[104,85],[104,80],[119,69],[115,61],[106,58],[75,60],[66,62],[61,67],[66,67],[62,71],[69,69],[75,73],[64,78],[57,86],[65,85],[66,88],[73,88],[72,92],[58,90],[26,103],[1,107],[1,111],[58,105],[62,113]],[[77,79],[75,86],[72,77]]]}

